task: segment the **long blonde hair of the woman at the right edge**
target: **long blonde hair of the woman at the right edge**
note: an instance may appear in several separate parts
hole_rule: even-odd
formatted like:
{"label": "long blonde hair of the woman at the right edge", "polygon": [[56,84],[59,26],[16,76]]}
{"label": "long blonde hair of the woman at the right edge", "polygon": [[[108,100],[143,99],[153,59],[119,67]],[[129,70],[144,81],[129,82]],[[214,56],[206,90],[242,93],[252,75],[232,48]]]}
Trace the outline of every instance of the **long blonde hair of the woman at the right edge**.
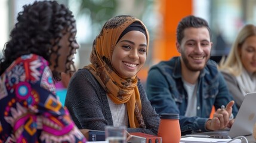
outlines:
{"label": "long blonde hair of the woman at the right edge", "polygon": [[236,40],[232,45],[228,57],[221,58],[218,69],[233,74],[233,76],[239,76],[242,73],[243,69],[239,50],[245,40],[251,36],[256,36],[256,27],[253,24],[247,24],[238,33],[238,36],[236,37]]}

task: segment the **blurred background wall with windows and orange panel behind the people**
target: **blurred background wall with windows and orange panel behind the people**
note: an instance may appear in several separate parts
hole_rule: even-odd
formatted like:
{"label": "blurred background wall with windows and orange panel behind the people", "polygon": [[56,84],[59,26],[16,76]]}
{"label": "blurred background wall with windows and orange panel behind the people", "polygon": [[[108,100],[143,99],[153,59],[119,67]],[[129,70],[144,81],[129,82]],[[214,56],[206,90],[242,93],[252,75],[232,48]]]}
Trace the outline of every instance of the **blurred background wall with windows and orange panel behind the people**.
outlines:
{"label": "blurred background wall with windows and orange panel behind the people", "polygon": [[[34,0],[0,1],[0,56],[18,11]],[[144,21],[150,32],[147,61],[138,77],[145,82],[150,66],[179,55],[175,48],[178,21],[186,15],[205,18],[212,29],[211,58],[218,61],[229,54],[230,46],[244,24],[256,23],[255,0],[58,0],[67,5],[77,20],[76,55],[79,68],[90,63],[92,41],[101,27],[115,15],[129,14]]]}

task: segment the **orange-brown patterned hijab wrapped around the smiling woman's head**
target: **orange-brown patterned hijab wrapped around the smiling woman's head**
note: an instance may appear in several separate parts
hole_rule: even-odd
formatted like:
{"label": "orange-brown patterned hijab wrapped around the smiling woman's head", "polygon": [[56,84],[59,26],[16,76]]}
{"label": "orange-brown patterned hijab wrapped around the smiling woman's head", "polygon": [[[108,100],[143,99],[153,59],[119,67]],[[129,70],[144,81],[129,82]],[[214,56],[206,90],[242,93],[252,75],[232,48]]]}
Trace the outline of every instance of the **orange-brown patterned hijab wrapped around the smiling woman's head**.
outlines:
{"label": "orange-brown patterned hijab wrapped around the smiling woman's head", "polygon": [[137,87],[137,76],[124,79],[112,67],[112,54],[122,32],[132,23],[138,22],[145,30],[147,49],[149,46],[149,32],[143,22],[129,15],[121,15],[107,21],[93,43],[90,61],[86,66],[107,96],[115,104],[127,104],[129,126],[131,128],[146,128],[141,115],[140,93]]}

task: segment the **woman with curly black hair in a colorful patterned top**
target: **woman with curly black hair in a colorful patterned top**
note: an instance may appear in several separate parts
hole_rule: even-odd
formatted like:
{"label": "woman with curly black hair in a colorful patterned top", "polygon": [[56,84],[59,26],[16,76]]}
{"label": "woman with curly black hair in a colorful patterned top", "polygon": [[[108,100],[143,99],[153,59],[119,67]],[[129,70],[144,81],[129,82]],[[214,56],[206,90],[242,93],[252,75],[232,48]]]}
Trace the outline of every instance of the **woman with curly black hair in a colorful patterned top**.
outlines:
{"label": "woman with curly black hair in a colorful patterned top", "polygon": [[85,142],[54,86],[79,48],[72,12],[56,1],[23,8],[0,60],[0,142]]}

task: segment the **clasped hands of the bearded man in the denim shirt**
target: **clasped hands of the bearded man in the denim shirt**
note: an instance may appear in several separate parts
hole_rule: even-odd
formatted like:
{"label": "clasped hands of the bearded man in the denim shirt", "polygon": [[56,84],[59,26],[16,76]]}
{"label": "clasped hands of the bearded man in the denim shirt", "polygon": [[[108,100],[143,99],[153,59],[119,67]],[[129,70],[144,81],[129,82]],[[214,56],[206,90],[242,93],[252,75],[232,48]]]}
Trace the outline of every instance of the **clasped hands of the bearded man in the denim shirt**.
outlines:
{"label": "clasped hands of the bearded man in the denim shirt", "polygon": [[230,101],[226,108],[218,110],[214,113],[212,119],[207,120],[206,129],[208,130],[220,130],[226,127],[232,126],[233,120],[229,120],[229,117],[232,114],[232,106],[235,104],[235,101]]}

